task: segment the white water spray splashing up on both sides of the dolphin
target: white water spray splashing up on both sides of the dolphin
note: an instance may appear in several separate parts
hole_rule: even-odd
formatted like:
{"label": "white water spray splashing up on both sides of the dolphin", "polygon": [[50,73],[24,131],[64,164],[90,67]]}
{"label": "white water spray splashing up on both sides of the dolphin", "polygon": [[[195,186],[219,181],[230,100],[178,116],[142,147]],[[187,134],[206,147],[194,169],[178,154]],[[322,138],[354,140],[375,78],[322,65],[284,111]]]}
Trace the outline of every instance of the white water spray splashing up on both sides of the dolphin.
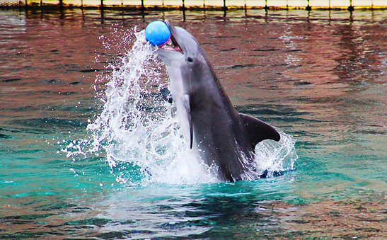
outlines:
{"label": "white water spray splashing up on both sides of the dolphin", "polygon": [[[90,139],[73,141],[64,152],[67,156],[105,153],[111,172],[122,183],[133,183],[135,179],[141,184],[218,181],[216,168],[205,165],[187,148],[175,107],[161,96],[161,86],[165,84],[160,74],[162,64],[154,55],[154,47],[141,43],[144,31],[134,28],[120,33],[115,30],[113,34],[115,40],[121,41],[114,43],[114,47],[112,42],[104,42],[107,50],[127,42],[134,42],[132,48],[123,47],[122,57],[108,65],[111,74],[96,81],[96,86],[100,81],[107,83],[103,94],[97,94],[102,111],[88,124]],[[283,132],[281,137],[278,143],[265,141],[257,145],[255,169],[293,168],[294,140]],[[124,171],[122,163],[131,170]]]}

